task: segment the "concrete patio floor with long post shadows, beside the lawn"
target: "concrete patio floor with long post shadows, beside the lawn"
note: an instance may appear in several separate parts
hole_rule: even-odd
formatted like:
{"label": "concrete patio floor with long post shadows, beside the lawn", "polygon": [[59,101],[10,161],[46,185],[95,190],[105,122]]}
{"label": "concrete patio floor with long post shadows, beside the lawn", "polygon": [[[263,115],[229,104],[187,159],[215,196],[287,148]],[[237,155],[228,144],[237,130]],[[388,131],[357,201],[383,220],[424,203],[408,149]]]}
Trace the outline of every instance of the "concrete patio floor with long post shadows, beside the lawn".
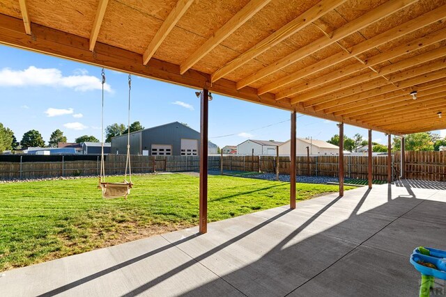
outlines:
{"label": "concrete patio floor with long post shadows, beside the lawn", "polygon": [[[439,189],[442,187],[443,189]],[[444,184],[357,188],[7,271],[2,296],[415,296],[443,246]],[[443,290],[444,284],[436,284]]]}

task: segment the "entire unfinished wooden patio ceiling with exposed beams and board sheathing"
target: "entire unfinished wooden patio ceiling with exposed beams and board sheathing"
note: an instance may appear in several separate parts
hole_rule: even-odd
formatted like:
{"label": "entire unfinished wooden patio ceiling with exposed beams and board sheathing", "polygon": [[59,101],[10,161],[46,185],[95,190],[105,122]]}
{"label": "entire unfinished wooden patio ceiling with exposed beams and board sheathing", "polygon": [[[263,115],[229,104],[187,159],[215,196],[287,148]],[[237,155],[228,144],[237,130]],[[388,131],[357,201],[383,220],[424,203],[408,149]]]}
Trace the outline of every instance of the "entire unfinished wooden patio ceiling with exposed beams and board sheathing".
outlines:
{"label": "entire unfinished wooden patio ceiling with exposed beams and board sheathing", "polygon": [[410,134],[446,128],[445,21],[446,0],[3,0],[0,43]]}

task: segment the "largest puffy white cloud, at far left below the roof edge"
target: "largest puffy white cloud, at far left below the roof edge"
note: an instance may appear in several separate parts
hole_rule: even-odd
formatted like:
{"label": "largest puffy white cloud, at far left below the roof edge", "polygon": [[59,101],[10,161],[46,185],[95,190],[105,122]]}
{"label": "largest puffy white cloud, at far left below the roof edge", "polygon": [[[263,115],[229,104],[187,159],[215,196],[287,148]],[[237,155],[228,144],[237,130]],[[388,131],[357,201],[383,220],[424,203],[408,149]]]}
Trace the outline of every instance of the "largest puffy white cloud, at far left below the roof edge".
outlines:
{"label": "largest puffy white cloud, at far left below the roof edge", "polygon": [[[82,92],[102,90],[99,77],[82,74],[85,73],[83,70],[75,70],[75,72],[77,74],[64,77],[61,70],[56,68],[38,68],[35,66],[29,66],[25,70],[3,68],[0,70],[0,86],[52,86],[72,88]],[[108,83],[105,83],[104,90],[112,92]]]}

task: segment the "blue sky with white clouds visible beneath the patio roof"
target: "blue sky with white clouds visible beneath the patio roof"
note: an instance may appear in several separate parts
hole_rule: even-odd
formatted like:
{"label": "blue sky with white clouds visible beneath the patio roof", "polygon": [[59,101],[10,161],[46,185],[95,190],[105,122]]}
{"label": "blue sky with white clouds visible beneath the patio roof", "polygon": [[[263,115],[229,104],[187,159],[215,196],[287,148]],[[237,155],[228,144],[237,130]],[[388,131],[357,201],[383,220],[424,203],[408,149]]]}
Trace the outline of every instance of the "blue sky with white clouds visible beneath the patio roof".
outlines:
{"label": "blue sky with white clouds visible beneath the patio roof", "polygon": [[[100,139],[100,67],[0,45],[0,122],[17,140],[31,129],[47,142],[55,129],[74,141],[84,134]],[[127,123],[128,74],[105,70],[105,125]],[[194,89],[132,77],[131,122],[144,127],[185,122],[199,131],[199,99]],[[209,104],[210,141],[220,147],[248,138],[286,141],[290,113],[239,99],[213,95]],[[266,127],[270,126],[270,127]],[[298,115],[298,137],[328,140],[338,133],[336,122]],[[346,136],[367,137],[367,130],[346,125]],[[226,136],[231,134],[231,136]],[[219,137],[226,136],[226,137]],[[385,143],[383,133],[374,141]]]}

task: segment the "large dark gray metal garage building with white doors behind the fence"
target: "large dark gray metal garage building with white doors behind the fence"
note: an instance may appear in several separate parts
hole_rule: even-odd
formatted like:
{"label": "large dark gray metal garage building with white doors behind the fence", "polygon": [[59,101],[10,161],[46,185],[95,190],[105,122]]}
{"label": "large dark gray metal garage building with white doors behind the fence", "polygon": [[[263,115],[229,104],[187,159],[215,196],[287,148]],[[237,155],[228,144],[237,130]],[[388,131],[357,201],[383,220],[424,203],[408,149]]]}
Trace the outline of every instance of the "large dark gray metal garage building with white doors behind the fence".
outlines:
{"label": "large dark gray metal garage building with white doors behind the fence", "polygon": [[[169,124],[130,133],[130,154],[198,156],[200,133],[181,124]],[[112,154],[127,152],[127,134],[112,138]]]}

